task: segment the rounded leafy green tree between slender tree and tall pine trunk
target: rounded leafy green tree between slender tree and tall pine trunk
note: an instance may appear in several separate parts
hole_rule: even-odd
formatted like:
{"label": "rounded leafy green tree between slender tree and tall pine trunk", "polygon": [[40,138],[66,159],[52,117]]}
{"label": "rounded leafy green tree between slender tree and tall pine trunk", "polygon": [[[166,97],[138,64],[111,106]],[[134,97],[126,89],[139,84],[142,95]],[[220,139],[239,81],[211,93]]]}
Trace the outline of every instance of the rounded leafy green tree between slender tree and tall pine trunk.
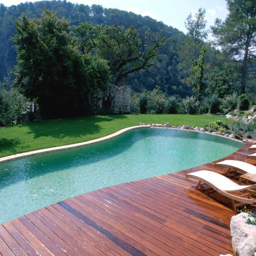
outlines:
{"label": "rounded leafy green tree between slender tree and tall pine trunk", "polygon": [[205,92],[208,95],[216,94],[218,98],[227,97],[234,90],[234,83],[238,79],[237,67],[232,64],[225,64],[220,71],[215,68],[207,76],[207,88]]}

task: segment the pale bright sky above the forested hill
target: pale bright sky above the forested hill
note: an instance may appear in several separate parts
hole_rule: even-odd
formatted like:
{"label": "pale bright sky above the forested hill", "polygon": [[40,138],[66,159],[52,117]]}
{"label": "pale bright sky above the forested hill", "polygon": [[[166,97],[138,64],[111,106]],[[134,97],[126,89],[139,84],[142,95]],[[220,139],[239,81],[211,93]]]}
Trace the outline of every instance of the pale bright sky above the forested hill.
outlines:
{"label": "pale bright sky above the forested hill", "polygon": [[[26,1],[0,0],[0,2],[5,6],[10,6]],[[70,0],[69,2],[83,3],[84,5],[99,4],[105,8],[117,8],[142,16],[148,15],[183,31],[185,34],[187,30],[184,21],[190,12],[193,14],[200,7],[205,8],[206,11],[207,29],[214,24],[216,18],[224,20],[228,13],[225,0]]]}

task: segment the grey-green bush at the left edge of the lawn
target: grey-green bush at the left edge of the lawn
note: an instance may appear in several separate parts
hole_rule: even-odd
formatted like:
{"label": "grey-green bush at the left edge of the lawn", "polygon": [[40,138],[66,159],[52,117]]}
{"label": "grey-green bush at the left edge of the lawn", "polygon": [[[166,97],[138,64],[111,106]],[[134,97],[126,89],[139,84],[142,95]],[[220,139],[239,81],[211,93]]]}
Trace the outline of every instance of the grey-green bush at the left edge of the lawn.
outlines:
{"label": "grey-green bush at the left edge of the lawn", "polygon": [[0,87],[0,126],[15,125],[22,121],[26,98],[16,89]]}

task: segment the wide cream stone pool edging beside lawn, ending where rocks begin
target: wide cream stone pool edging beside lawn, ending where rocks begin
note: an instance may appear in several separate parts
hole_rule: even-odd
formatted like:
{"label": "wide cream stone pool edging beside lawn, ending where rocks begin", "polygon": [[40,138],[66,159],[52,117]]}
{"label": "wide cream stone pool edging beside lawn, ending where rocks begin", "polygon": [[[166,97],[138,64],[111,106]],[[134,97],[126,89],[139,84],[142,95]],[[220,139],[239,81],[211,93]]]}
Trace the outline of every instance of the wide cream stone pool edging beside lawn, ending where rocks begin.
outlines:
{"label": "wide cream stone pool edging beside lawn, ending where rocks begin", "polygon": [[29,151],[29,152],[24,152],[24,153],[18,153],[15,155],[9,155],[7,157],[1,157],[0,158],[0,163],[1,162],[6,162],[9,160],[13,160],[16,158],[20,158],[20,157],[27,157],[30,155],[36,155],[36,154],[42,154],[42,153],[47,153],[47,152],[53,152],[53,151],[57,151],[57,150],[65,150],[65,149],[70,149],[70,148],[76,148],[76,147],[82,147],[84,145],[89,145],[89,144],[93,144],[93,143],[97,143],[100,141],[104,141],[104,140],[108,140],[110,138],[113,138],[115,136],[118,136],[126,131],[129,130],[133,130],[136,128],[149,128],[149,125],[137,125],[137,126],[130,126],[124,129],[121,129],[119,131],[116,131],[115,133],[109,134],[107,136],[98,138],[98,139],[94,139],[94,140],[88,140],[88,141],[84,141],[84,142],[79,142],[79,143],[74,143],[74,144],[69,144],[69,145],[64,145],[64,146],[58,146],[58,147],[52,147],[52,148],[43,148],[43,149],[38,149],[38,150],[33,150],[33,151]]}

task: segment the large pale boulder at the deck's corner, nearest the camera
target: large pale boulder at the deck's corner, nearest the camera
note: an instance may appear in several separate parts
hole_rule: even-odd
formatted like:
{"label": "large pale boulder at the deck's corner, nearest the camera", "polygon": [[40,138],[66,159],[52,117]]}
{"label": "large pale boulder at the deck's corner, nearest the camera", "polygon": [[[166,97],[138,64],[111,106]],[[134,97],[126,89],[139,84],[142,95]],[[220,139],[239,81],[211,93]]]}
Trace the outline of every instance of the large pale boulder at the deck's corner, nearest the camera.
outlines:
{"label": "large pale boulder at the deck's corner, nearest the camera", "polygon": [[254,256],[256,252],[256,226],[246,222],[248,217],[241,212],[231,218],[232,249],[237,256]]}

